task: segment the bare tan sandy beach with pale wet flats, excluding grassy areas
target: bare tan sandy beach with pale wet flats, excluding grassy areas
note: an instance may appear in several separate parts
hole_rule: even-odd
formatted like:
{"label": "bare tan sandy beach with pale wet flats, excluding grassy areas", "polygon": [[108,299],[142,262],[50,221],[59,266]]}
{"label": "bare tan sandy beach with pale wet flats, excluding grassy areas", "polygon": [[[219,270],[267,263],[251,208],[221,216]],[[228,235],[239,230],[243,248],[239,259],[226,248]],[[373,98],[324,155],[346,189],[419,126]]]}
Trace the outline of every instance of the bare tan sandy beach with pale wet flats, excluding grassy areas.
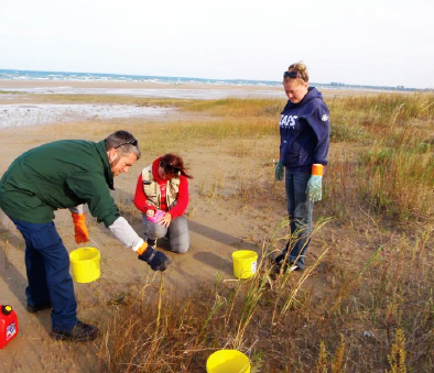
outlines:
{"label": "bare tan sandy beach with pale wet flats, excluding grassy areas", "polygon": [[[263,92],[278,94],[276,89],[258,87],[162,87],[152,84],[144,86],[140,83],[0,81],[0,91],[2,91],[0,94],[0,133],[3,139],[0,152],[0,175],[21,153],[50,141],[76,138],[99,141],[117,129],[141,133],[143,127],[149,127],[152,131],[160,125],[166,125],[165,122],[189,123],[198,119],[200,121],[215,120],[204,119],[200,113],[186,116],[176,109],[156,106],[52,102],[50,95],[58,90],[89,96],[96,95],[98,90],[101,90],[98,95],[111,95],[112,90],[122,90],[122,95],[130,94],[130,96],[135,96],[139,90],[148,90],[152,97],[166,97],[167,92],[173,92],[176,98],[184,99],[189,96],[211,98],[214,96],[249,97],[263,95]],[[105,94],[101,94],[102,91]],[[166,129],[164,135],[170,136],[170,129],[164,128]],[[267,152],[276,146],[273,139],[261,145]],[[237,213],[235,213],[234,208],[239,206],[239,202],[231,198],[217,199],[211,191],[213,185],[225,179],[228,180],[226,183],[235,183],[234,190],[236,190],[240,183],[238,179],[241,176],[248,177],[245,175],[252,175],[253,169],[258,167],[263,167],[263,161],[254,157],[246,163],[243,157],[228,152],[228,144],[224,143],[216,143],[211,146],[208,144],[194,147],[185,144],[180,146],[181,155],[194,175],[189,186],[191,204],[187,210],[192,243],[191,250],[185,255],[167,252],[173,263],[164,273],[164,286],[167,292],[176,292],[181,296],[206,284],[213,284],[218,274],[223,275],[225,281],[234,281],[231,252],[237,249],[260,252],[263,240],[272,234],[284,215],[284,204],[280,207],[269,206],[262,210],[237,208]],[[240,143],[237,146],[246,154],[250,153],[248,147],[243,147],[247,145]],[[143,231],[140,213],[132,205],[137,177],[142,167],[161,155],[160,152],[172,150],[155,150],[144,141],[142,158],[130,173],[116,178],[113,198],[122,216],[140,234]],[[230,169],[226,165],[231,165]],[[271,167],[264,168],[264,173],[269,172]],[[79,317],[96,322],[100,319],[101,304],[109,303],[122,294],[130,292],[134,294],[145,283],[158,284],[160,274],[153,273],[145,264],[138,261],[133,253],[116,241],[105,227],[98,224],[88,212],[87,216],[90,245],[100,249],[102,255],[101,277],[89,285],[75,284],[75,288]],[[68,211],[57,211],[55,223],[66,248],[69,251],[76,249]],[[161,244],[164,250],[164,242]],[[20,232],[2,211],[0,211],[0,304],[11,304],[20,322],[18,338],[6,349],[0,350],[0,370],[91,372],[91,367],[84,367],[80,361],[93,361],[94,348],[85,344],[73,348],[68,343],[53,342],[48,336],[50,311],[32,315],[25,310],[24,242]],[[107,308],[105,312],[109,315],[112,310]],[[74,356],[82,358],[75,359]],[[68,369],[65,367],[65,362]]]}

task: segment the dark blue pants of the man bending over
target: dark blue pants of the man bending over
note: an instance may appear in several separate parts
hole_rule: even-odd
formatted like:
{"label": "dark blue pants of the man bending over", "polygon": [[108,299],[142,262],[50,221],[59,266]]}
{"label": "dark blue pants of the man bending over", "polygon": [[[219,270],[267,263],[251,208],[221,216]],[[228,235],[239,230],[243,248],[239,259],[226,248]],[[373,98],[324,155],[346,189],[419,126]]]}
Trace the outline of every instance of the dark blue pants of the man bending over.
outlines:
{"label": "dark blue pants of the man bending over", "polygon": [[53,329],[68,330],[77,322],[77,303],[69,275],[69,256],[54,222],[31,223],[12,219],[25,240],[28,304],[52,304]]}

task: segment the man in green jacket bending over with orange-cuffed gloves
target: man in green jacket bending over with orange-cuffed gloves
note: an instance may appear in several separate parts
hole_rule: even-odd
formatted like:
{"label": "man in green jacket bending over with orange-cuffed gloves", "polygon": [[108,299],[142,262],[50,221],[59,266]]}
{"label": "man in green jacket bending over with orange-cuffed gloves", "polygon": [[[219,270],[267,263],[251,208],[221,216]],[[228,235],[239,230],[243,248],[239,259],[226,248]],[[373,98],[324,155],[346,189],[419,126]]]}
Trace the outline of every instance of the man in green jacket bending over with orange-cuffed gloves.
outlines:
{"label": "man in green jacket bending over with orange-cuffed gloves", "polygon": [[170,262],[135,233],[110,196],[113,176],[127,173],[139,157],[138,141],[127,131],[97,143],[61,140],[23,153],[0,180],[0,207],[25,240],[28,310],[52,308],[57,340],[93,340],[98,328],[77,319],[69,257],[53,222],[56,209],[70,210],[77,243],[89,240],[83,213],[87,204],[97,221],[153,271],[164,271]]}

